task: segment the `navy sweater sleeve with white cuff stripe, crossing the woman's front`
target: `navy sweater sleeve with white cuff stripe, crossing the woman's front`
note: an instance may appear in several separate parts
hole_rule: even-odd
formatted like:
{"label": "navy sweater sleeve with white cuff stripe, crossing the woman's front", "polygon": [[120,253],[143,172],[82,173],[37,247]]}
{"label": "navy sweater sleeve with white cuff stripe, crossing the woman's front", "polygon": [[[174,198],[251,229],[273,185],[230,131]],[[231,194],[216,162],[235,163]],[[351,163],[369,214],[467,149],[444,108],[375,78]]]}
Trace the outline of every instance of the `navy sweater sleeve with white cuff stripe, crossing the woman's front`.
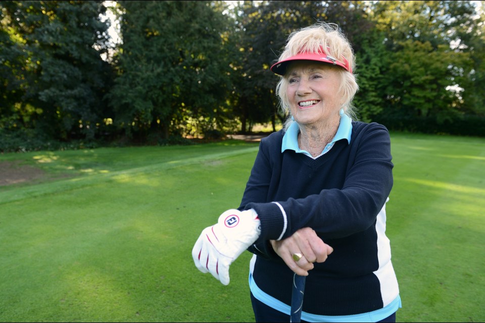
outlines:
{"label": "navy sweater sleeve with white cuff stripe, crossing the woman's front", "polygon": [[[354,135],[350,157],[342,160],[348,165],[341,189],[324,189],[319,194],[273,203],[253,199],[244,205],[259,214],[261,236],[257,243],[284,239],[305,227],[313,228],[324,239],[334,239],[373,225],[393,186],[391,140],[387,129],[376,123],[366,124]],[[261,166],[255,163],[254,167]]]}

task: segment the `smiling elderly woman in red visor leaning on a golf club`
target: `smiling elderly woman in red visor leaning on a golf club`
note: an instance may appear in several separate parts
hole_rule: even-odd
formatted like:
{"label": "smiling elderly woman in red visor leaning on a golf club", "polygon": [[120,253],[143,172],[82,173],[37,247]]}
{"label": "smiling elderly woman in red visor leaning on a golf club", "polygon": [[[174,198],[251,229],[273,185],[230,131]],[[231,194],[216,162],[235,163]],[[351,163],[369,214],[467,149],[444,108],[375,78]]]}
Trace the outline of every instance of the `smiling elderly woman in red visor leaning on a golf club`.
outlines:
{"label": "smiling elderly woman in red visor leaning on a golf club", "polygon": [[192,249],[199,270],[225,285],[237,256],[254,254],[256,321],[289,321],[294,273],[306,276],[303,321],[396,320],[401,299],[385,235],[390,137],[382,125],[352,120],[354,67],[335,25],[290,34],[271,67],[281,76],[284,128],[261,140],[240,206]]}

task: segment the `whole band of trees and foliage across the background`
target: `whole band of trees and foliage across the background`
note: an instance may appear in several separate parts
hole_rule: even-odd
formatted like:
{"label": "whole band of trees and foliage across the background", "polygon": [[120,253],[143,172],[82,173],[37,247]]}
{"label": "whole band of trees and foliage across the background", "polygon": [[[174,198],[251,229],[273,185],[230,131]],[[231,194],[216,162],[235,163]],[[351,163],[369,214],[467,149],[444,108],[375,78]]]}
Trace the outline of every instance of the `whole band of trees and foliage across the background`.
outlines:
{"label": "whole band of trees and foliage across the background", "polygon": [[269,68],[291,32],[317,21],[336,23],[353,43],[361,120],[483,135],[463,126],[485,118],[485,15],[475,6],[119,1],[113,48],[103,1],[3,1],[0,135],[149,142],[256,123],[275,130],[285,116]]}

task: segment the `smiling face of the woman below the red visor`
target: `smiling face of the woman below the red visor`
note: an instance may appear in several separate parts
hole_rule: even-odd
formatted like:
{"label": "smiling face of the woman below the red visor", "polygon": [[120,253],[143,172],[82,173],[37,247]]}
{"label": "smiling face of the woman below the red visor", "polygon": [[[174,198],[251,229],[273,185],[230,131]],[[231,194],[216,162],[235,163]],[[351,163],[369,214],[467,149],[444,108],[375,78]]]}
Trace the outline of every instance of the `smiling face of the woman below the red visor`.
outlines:
{"label": "smiling face of the woman below the red visor", "polygon": [[318,62],[297,61],[288,66],[286,95],[299,125],[328,125],[340,120],[343,97],[336,68]]}

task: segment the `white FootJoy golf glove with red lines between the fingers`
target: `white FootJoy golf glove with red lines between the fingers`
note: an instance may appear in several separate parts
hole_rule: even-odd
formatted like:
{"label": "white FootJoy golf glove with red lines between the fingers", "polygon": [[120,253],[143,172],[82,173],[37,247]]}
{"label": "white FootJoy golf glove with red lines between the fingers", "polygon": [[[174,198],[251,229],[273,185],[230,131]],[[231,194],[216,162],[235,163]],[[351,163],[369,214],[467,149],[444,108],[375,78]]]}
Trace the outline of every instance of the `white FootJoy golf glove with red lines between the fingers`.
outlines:
{"label": "white FootJoy golf glove with red lines between the fingers", "polygon": [[222,213],[218,223],[204,229],[192,248],[196,267],[228,285],[229,265],[259,238],[260,224],[253,209]]}

